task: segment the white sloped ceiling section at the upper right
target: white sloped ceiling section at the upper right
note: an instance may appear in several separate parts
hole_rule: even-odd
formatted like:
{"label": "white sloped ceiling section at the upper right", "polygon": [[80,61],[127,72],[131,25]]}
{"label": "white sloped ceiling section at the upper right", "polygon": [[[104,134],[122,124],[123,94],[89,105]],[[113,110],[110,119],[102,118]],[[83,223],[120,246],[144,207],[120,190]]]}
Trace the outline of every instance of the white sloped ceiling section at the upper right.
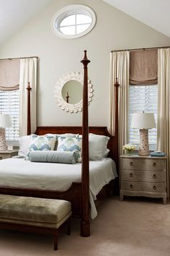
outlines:
{"label": "white sloped ceiling section at the upper right", "polygon": [[170,37],[169,0],[103,0]]}

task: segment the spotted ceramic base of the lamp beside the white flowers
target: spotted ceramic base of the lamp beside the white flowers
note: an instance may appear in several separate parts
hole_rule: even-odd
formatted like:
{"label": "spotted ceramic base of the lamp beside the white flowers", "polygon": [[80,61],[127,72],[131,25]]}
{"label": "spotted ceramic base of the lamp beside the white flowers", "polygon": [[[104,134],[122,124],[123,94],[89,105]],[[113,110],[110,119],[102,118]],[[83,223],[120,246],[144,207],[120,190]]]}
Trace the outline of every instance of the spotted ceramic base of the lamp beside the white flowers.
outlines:
{"label": "spotted ceramic base of the lamp beside the white flowers", "polygon": [[140,144],[138,155],[150,155],[148,146],[148,129],[140,129]]}

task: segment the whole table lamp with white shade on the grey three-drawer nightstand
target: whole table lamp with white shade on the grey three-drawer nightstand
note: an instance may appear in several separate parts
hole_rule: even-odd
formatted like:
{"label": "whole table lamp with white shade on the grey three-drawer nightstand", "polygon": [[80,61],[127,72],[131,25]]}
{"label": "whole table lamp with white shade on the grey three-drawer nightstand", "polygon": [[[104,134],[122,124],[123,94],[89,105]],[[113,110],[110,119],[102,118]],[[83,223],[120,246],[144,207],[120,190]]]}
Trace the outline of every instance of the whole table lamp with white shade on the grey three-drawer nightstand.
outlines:
{"label": "whole table lamp with white shade on the grey three-drawer nightstand", "polygon": [[139,128],[140,143],[138,155],[150,155],[148,145],[148,129],[155,128],[156,122],[153,113],[135,113],[133,114],[132,128]]}

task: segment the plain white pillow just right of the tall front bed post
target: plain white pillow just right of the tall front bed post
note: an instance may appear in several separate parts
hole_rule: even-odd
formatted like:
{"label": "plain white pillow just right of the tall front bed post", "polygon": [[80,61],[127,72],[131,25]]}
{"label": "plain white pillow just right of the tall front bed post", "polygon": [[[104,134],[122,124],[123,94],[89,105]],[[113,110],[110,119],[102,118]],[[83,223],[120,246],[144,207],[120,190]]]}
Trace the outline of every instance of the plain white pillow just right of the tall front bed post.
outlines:
{"label": "plain white pillow just right of the tall front bed post", "polygon": [[109,153],[107,143],[109,137],[104,135],[89,134],[89,160],[102,160]]}

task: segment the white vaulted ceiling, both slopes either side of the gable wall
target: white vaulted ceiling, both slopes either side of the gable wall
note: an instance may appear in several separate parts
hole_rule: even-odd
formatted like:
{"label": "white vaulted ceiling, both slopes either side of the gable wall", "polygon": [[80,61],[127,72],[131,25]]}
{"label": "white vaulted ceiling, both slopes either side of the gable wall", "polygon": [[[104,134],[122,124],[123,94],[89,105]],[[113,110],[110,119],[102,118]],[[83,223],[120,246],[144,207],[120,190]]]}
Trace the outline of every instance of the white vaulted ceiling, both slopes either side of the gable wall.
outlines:
{"label": "white vaulted ceiling, both slopes either side of the gable wall", "polygon": [[[0,44],[53,0],[0,0]],[[64,0],[63,0],[64,1]],[[170,37],[169,0],[103,0]]]}

